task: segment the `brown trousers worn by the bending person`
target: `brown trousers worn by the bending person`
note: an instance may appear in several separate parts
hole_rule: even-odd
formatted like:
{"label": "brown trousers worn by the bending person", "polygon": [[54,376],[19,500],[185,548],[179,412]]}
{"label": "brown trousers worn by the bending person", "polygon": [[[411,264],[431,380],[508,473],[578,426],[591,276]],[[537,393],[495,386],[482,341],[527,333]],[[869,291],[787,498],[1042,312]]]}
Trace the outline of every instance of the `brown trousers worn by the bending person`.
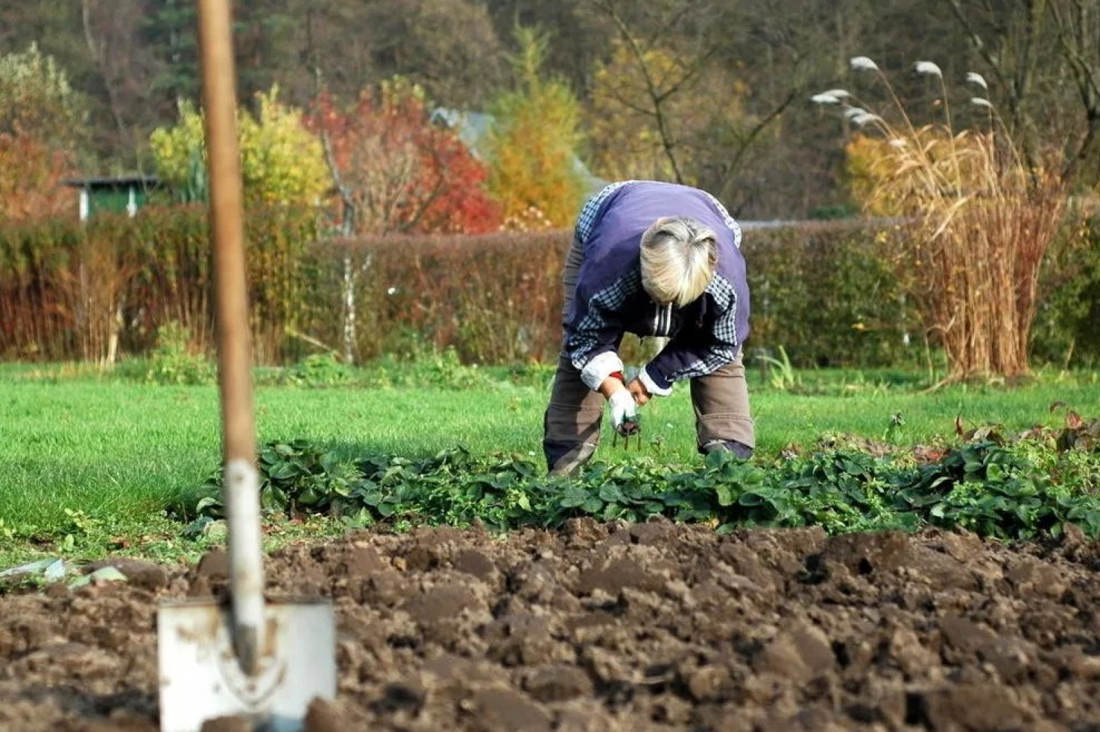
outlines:
{"label": "brown trousers worn by the bending person", "polygon": [[[562,276],[565,292],[563,314],[569,312],[584,249],[574,239]],[[700,452],[715,447],[734,450],[743,457],[756,445],[749,412],[749,390],[741,355],[706,376],[691,379],[695,410],[695,442]],[[600,444],[604,397],[581,381],[581,373],[564,354],[558,356],[550,404],[543,420],[542,450],[553,473],[570,473],[590,457]]]}

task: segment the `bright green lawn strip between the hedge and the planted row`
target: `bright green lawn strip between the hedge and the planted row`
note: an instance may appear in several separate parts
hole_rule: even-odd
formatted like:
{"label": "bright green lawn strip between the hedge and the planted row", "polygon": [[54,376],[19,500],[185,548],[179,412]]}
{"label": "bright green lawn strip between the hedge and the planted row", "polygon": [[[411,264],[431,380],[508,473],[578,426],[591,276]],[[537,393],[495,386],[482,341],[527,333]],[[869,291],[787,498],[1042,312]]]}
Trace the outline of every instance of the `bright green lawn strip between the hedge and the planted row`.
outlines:
{"label": "bright green lawn strip between the hedge and the planted row", "polygon": [[[464,367],[463,367],[464,368]],[[426,386],[258,386],[260,441],[309,439],[348,456],[384,452],[426,456],[463,445],[475,454],[540,455],[550,371],[466,369],[457,389]],[[453,377],[454,374],[452,373]],[[806,371],[798,391],[749,374],[758,455],[812,445],[823,435],[859,435],[897,445],[950,441],[967,426],[1020,431],[1058,425],[1062,401],[1100,412],[1096,373],[1048,373],[1013,389],[956,385],[933,392],[912,374]],[[265,379],[274,381],[275,379]],[[370,371],[355,384],[370,385]],[[601,456],[697,459],[688,389],[641,410],[644,440],[625,453],[605,437]],[[898,419],[900,415],[900,420]],[[43,552],[96,555],[124,551],[186,556],[166,507],[193,492],[220,462],[215,386],[160,386],[73,367],[0,368],[0,568]],[[606,425],[605,425],[606,430]],[[607,434],[605,432],[605,434]],[[295,532],[331,526],[284,528]]]}

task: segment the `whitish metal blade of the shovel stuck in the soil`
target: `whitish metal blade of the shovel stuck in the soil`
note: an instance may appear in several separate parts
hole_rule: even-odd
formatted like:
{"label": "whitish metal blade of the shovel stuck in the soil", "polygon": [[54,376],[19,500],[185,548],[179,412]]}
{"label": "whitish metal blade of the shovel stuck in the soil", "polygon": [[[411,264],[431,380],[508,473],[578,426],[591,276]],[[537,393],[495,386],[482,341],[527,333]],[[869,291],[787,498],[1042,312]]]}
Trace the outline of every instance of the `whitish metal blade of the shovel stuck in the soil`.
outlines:
{"label": "whitish metal blade of the shovel stuck in the soil", "polygon": [[230,608],[215,599],[161,606],[156,619],[161,731],[199,732],[219,717],[246,716],[270,732],[297,732],[309,703],[337,692],[332,603],[322,598],[267,602],[255,674],[233,650]]}

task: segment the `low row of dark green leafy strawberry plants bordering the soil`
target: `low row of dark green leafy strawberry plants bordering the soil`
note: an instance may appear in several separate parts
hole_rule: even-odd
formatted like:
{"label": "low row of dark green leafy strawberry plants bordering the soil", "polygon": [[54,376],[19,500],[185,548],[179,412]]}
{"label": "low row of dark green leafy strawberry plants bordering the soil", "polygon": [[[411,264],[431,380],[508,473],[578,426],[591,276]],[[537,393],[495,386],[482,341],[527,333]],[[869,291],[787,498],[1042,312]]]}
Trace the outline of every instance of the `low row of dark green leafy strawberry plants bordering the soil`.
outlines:
{"label": "low row of dark green leafy strawberry plants bordering the soil", "polygon": [[[1088,436],[1088,423],[1072,426]],[[1062,433],[1059,433],[1060,435]],[[1075,433],[1076,434],[1076,433]],[[578,515],[644,522],[652,517],[743,526],[821,525],[829,533],[915,530],[931,524],[987,536],[1057,535],[1078,524],[1100,535],[1100,453],[1076,440],[1026,433],[1009,441],[994,428],[954,447],[876,454],[826,441],[770,465],[729,453],[700,464],[651,456],[594,462],[573,478],[549,477],[530,455],[474,455],[463,447],[430,457],[338,457],[308,441],[260,451],[262,504],[270,513],[329,513],[352,526],[482,523],[493,531],[560,525]],[[195,512],[217,518],[220,475]]]}

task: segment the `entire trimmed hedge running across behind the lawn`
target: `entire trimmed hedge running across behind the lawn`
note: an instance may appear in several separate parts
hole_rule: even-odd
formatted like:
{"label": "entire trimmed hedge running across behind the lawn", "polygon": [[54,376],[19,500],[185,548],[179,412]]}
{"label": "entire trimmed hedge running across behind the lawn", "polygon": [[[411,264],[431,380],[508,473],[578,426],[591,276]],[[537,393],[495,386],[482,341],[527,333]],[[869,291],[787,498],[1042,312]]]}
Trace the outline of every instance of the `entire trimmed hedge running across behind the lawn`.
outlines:
{"label": "entire trimmed hedge running across behind the lawn", "polygon": [[[554,358],[570,232],[333,240],[319,235],[317,221],[308,210],[249,212],[258,363],[293,363],[318,350],[363,362],[448,347],[466,363]],[[1100,359],[1094,224],[1067,226],[1044,266],[1033,334],[1040,359]],[[746,226],[750,354],[782,348],[803,367],[922,363],[930,344],[877,255],[876,233],[851,221]],[[0,230],[0,357],[141,356],[168,323],[209,353],[211,288],[202,208],[9,226]]]}

